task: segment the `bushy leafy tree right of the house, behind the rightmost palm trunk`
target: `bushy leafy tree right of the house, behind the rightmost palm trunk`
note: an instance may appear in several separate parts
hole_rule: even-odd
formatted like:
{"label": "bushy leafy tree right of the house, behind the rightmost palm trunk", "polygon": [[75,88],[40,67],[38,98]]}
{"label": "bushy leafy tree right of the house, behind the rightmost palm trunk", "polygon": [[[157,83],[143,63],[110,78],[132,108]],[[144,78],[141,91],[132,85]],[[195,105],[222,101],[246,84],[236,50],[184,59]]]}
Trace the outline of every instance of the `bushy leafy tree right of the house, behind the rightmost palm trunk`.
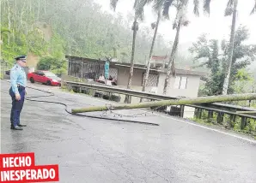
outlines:
{"label": "bushy leafy tree right of the house, behind the rightmost palm trunk", "polygon": [[[234,54],[232,57],[233,69],[230,73],[228,93],[235,92],[237,81],[249,80],[248,74],[242,72],[248,65],[256,60],[256,44],[244,44],[249,38],[246,27],[239,27],[234,37]],[[205,34],[192,44],[190,51],[195,55],[194,62],[198,67],[205,66],[210,69],[210,75],[204,78],[204,95],[220,95],[225,80],[229,61],[229,42],[222,40],[221,47],[216,39],[208,39]],[[251,91],[250,91],[251,92]]]}

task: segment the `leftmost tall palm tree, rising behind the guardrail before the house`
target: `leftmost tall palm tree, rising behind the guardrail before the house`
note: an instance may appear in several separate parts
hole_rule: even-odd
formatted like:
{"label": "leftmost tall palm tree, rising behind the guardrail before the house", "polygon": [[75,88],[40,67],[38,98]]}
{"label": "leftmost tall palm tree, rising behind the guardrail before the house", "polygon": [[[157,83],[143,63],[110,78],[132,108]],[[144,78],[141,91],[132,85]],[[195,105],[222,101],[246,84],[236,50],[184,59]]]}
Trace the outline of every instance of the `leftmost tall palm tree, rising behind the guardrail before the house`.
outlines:
{"label": "leftmost tall palm tree, rising behind the guardrail before the house", "polygon": [[[117,7],[117,3],[119,0],[110,0],[111,7],[115,11]],[[133,31],[133,36],[132,36],[132,47],[131,47],[131,68],[130,68],[130,74],[129,74],[129,79],[128,79],[128,85],[127,89],[131,88],[131,80],[132,80],[132,75],[133,75],[133,67],[134,67],[134,54],[135,54],[135,40],[137,36],[137,30],[138,30],[138,22],[137,20],[143,20],[143,8],[147,3],[150,3],[150,0],[135,0],[133,9],[134,9],[134,21],[132,25],[132,31]],[[129,101],[128,96],[125,96],[125,103]]]}

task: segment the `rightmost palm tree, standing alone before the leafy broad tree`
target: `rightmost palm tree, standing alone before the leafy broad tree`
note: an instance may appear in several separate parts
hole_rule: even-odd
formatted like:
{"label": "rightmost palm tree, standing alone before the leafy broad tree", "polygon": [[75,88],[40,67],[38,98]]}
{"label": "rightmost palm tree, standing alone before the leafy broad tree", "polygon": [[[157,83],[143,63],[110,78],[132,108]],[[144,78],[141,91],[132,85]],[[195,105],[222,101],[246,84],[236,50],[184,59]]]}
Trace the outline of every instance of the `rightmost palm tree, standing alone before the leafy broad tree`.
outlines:
{"label": "rightmost palm tree, standing alone before the leafy broad tree", "polygon": [[[204,11],[210,14],[210,1],[211,0],[205,0],[204,1]],[[253,9],[250,13],[250,15],[253,15],[256,12],[256,0],[255,4],[253,6]],[[236,16],[237,16],[237,4],[238,0],[229,0],[227,7],[225,9],[225,16],[232,15],[232,26],[231,26],[231,32],[230,32],[230,40],[229,40],[229,53],[228,53],[228,60],[227,62],[229,63],[229,67],[227,70],[227,74],[223,83],[223,88],[222,88],[222,94],[227,95],[228,89],[229,89],[229,77],[230,77],[230,72],[232,68],[232,58],[233,58],[233,51],[234,51],[234,37],[235,37],[235,23],[236,23]]]}

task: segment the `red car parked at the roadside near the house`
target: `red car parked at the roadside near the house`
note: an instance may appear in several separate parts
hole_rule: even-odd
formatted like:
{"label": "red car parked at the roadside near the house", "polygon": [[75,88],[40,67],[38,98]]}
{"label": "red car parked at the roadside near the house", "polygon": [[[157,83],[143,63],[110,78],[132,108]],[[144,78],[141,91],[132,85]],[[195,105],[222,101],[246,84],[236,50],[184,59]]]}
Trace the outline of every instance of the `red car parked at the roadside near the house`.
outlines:
{"label": "red car parked at the roadside near the house", "polygon": [[30,80],[31,83],[39,82],[47,86],[61,86],[61,79],[50,71],[37,70],[33,73],[28,73],[27,79]]}

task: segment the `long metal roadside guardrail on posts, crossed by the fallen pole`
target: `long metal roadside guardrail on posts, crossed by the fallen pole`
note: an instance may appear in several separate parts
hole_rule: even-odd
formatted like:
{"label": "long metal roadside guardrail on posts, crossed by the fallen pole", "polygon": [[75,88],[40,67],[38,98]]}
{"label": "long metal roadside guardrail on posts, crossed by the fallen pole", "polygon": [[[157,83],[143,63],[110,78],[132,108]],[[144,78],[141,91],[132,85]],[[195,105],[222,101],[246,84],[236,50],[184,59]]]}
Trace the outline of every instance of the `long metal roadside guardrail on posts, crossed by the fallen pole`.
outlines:
{"label": "long metal roadside guardrail on posts, crossed by the fallen pole", "polygon": [[[82,88],[88,88],[95,91],[106,91],[108,93],[119,93],[123,95],[128,95],[130,97],[143,97],[151,100],[169,100],[169,99],[179,99],[181,97],[168,97],[164,95],[159,95],[155,93],[143,92],[143,91],[134,91],[124,88],[118,88],[115,86],[101,86],[90,83],[80,83],[73,81],[64,81],[68,86],[69,91],[74,89],[74,87],[79,88],[79,91],[82,91]],[[247,127],[248,120],[256,120],[256,109],[253,108],[244,108],[241,106],[230,105],[227,103],[202,103],[202,104],[187,104],[185,106],[192,107],[195,110],[195,117],[200,119],[202,118],[203,111],[208,111],[207,119],[210,121],[213,118],[213,114],[216,113],[216,121],[219,124],[222,124],[224,115],[229,115],[229,124],[237,120],[237,117],[241,118],[241,129]],[[239,114],[236,111],[255,111],[255,114]],[[180,106],[180,111],[175,111],[180,117],[184,115],[184,106]],[[172,112],[170,112],[173,114]]]}

